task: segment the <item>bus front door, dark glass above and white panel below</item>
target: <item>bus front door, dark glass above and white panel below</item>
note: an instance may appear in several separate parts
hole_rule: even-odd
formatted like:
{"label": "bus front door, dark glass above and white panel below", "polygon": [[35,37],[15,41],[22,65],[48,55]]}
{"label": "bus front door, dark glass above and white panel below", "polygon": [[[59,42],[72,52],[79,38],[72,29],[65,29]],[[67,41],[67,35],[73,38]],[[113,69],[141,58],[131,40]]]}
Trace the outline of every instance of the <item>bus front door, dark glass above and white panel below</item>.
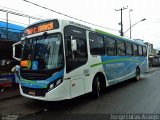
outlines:
{"label": "bus front door, dark glass above and white panel below", "polygon": [[[68,27],[70,28],[70,26]],[[73,98],[84,94],[84,70],[88,55],[85,39],[86,35],[84,34],[85,32],[81,31],[81,29],[74,27],[70,29],[75,29],[73,31],[75,31],[76,33],[72,33],[73,36],[65,36],[65,54],[66,73],[68,78],[70,79],[71,97]],[[67,32],[71,31],[67,30]]]}

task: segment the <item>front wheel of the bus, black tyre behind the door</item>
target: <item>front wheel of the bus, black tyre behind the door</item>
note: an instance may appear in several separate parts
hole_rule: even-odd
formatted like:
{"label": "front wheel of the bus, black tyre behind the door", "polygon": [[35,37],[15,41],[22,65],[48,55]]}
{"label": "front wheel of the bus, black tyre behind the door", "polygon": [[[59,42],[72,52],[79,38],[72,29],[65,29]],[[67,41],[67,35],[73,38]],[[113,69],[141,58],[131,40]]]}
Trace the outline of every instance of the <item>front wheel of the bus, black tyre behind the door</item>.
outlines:
{"label": "front wheel of the bus, black tyre behind the door", "polygon": [[98,98],[99,93],[100,93],[100,82],[99,82],[99,77],[96,76],[93,80],[92,95],[94,98]]}

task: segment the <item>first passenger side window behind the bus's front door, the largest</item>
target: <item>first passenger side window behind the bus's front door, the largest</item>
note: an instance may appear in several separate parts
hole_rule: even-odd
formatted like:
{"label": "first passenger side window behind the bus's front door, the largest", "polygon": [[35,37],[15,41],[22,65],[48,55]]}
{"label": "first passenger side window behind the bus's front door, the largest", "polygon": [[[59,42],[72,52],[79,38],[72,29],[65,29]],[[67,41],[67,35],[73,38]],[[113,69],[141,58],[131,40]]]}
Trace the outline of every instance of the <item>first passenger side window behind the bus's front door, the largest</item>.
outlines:
{"label": "first passenger side window behind the bus's front door, the largest", "polygon": [[104,55],[104,39],[94,33],[89,34],[90,52],[92,55]]}

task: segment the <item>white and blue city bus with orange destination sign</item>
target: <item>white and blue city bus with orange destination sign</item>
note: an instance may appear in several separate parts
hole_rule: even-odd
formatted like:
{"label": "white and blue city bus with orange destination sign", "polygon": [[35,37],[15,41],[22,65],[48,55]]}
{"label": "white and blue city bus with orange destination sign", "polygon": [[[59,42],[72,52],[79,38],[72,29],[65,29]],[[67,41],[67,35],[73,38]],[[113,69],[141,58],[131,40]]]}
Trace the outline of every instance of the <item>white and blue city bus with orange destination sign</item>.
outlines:
{"label": "white and blue city bus with orange destination sign", "polygon": [[[15,48],[22,45],[21,58]],[[147,47],[99,29],[61,19],[28,26],[13,45],[20,61],[20,93],[43,101],[71,99],[147,70]]]}

